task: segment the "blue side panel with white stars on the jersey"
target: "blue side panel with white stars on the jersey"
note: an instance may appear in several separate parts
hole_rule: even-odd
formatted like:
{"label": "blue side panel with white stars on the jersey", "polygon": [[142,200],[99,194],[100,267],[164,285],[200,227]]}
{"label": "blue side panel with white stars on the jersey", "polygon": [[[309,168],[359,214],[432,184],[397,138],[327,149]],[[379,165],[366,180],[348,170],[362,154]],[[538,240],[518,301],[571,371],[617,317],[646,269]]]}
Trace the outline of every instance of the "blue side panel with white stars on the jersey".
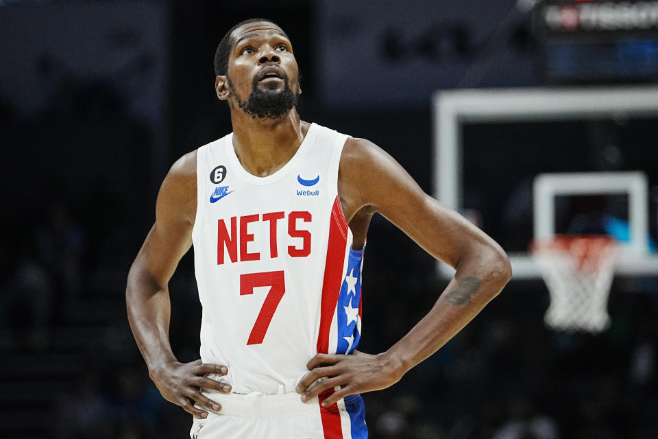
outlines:
{"label": "blue side panel with white stars on the jersey", "polygon": [[361,338],[361,317],[358,315],[361,303],[361,264],[363,250],[350,249],[348,268],[338,296],[337,325],[338,346],[336,353],[349,354],[354,351]]}

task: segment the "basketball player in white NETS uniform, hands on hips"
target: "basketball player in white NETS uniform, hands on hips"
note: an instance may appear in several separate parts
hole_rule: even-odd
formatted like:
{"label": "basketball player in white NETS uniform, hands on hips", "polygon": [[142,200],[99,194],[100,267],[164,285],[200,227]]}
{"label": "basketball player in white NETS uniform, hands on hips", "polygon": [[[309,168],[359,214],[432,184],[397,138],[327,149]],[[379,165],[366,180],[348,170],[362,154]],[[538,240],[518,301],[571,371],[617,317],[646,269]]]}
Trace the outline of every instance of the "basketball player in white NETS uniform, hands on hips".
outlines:
{"label": "basketball player in white NETS uniform, hands on hips", "polygon": [[[507,256],[373,143],[300,120],[297,62],[278,25],[230,29],[215,69],[233,132],[171,167],[128,277],[149,375],[195,416],[193,438],[366,438],[359,394],[397,382],[474,318],[509,281]],[[402,340],[368,355],[354,348],[375,212],[456,274]],[[167,283],[192,245],[201,359],[182,364]]]}

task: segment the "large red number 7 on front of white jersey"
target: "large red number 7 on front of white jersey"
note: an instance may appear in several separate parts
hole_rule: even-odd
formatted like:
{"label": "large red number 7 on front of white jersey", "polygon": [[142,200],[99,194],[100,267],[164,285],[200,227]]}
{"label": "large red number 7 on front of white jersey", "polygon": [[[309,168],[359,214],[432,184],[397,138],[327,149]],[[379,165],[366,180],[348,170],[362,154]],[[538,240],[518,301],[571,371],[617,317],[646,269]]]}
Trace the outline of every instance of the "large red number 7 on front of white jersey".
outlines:
{"label": "large red number 7 on front of white jersey", "polygon": [[249,334],[247,344],[260,344],[263,343],[265,333],[269,327],[269,322],[272,321],[274,311],[279,306],[279,302],[286,292],[286,282],[282,271],[278,272],[265,272],[265,273],[248,273],[240,275],[240,295],[254,294],[256,287],[271,287],[263,302],[263,307],[260,308],[260,313],[256,318],[256,323],[252,328],[252,333]]}

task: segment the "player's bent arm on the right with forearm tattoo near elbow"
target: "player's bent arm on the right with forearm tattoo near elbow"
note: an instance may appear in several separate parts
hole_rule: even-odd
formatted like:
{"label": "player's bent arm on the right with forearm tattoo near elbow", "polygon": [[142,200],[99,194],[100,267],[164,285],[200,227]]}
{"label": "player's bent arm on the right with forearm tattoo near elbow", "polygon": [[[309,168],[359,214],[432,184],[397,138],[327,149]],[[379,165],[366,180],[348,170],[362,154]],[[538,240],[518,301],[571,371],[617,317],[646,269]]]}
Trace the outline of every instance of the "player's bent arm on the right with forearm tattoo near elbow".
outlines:
{"label": "player's bent arm on the right with forearm tattoo near elbow", "polygon": [[398,382],[470,322],[511,278],[509,259],[493,239],[424,193],[391,156],[369,141],[345,143],[339,194],[348,220],[361,207],[371,206],[456,272],[427,315],[388,351],[317,354],[308,362],[310,372],[297,387],[302,401],[342,387],[324,405]]}

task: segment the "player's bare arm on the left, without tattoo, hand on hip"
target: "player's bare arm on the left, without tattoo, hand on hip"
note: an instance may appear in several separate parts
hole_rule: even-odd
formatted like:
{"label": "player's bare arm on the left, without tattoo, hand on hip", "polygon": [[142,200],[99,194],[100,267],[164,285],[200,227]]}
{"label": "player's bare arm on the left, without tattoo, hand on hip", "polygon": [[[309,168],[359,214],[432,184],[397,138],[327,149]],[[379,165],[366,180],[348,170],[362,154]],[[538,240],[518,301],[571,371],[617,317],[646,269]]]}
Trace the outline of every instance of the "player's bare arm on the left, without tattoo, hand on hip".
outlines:
{"label": "player's bare arm on the left, without tattoo, hand on hip", "polygon": [[199,359],[180,363],[169,344],[169,289],[167,284],[183,255],[192,245],[196,214],[196,152],[180,158],[164,178],[156,203],[156,222],[130,268],[125,291],[130,328],[141,351],[149,376],[164,396],[197,418],[205,418],[220,405],[210,401],[200,388],[230,392],[226,383],[206,374],[226,375],[226,366],[202,364]]}

